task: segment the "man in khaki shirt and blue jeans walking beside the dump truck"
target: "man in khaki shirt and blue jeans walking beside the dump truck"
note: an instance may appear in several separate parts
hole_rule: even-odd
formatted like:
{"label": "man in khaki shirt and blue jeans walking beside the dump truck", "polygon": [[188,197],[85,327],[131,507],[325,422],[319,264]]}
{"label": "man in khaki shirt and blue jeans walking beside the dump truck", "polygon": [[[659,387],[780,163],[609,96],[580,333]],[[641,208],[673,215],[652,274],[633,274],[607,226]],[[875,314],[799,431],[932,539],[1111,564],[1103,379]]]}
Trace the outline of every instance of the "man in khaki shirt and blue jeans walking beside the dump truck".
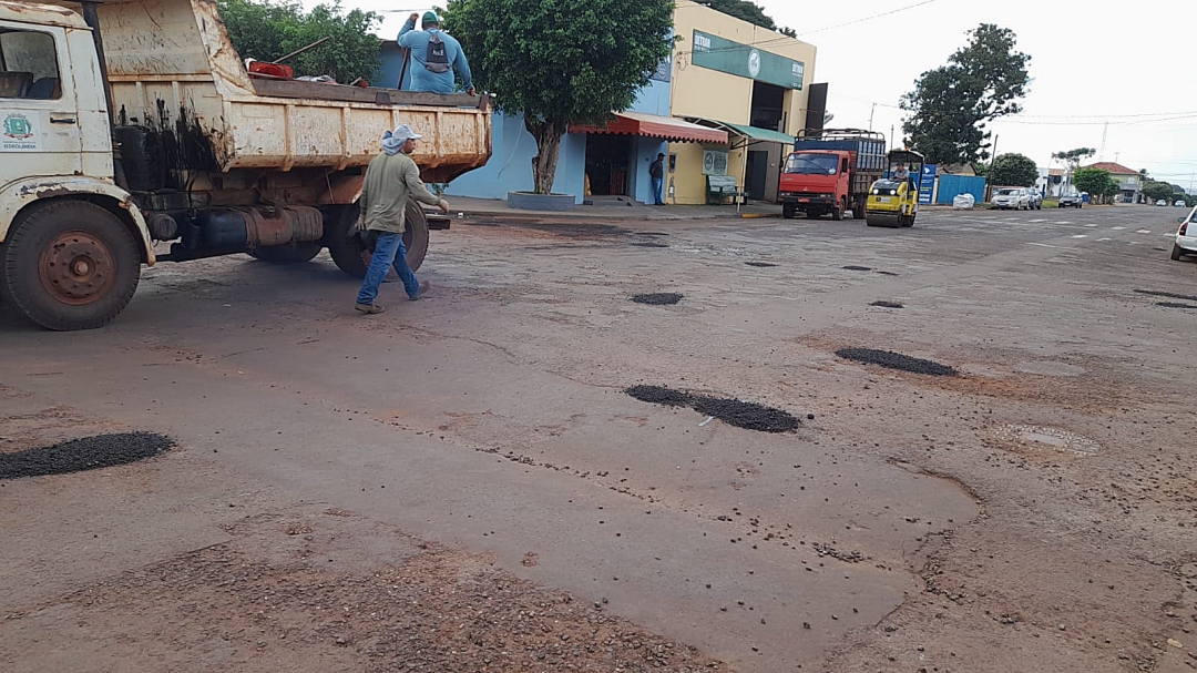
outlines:
{"label": "man in khaki shirt and blue jeans walking beside the dump truck", "polygon": [[383,311],[375,299],[378,298],[378,286],[385,280],[391,266],[403,281],[403,290],[409,299],[419,299],[420,291],[427,289],[427,284],[421,285],[407,266],[407,247],[403,245],[407,200],[411,198],[438,206],[444,212],[449,212],[449,202],[429,192],[420,178],[420,169],[408,156],[415,151],[415,141],[420,138],[424,137],[406,123],[394,132],[388,131],[382,140],[382,153],[371,159],[366,168],[361,198],[358,200],[361,208],[358,229],[377,231],[378,240],[366,278],[358,292],[357,309],[364,314]]}

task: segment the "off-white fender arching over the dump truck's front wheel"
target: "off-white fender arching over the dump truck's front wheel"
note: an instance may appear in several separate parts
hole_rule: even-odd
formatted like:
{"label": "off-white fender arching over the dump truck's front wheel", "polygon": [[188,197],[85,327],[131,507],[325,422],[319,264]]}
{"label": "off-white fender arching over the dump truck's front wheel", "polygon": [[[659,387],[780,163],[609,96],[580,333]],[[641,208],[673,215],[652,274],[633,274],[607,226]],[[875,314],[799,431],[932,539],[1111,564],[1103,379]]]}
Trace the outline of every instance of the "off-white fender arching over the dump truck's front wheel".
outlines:
{"label": "off-white fender arching over the dump truck's front wheel", "polygon": [[0,243],[25,208],[49,199],[71,198],[92,201],[120,216],[139,240],[142,261],[147,266],[154,263],[150,229],[133,196],[111,182],[85,176],[26,177],[0,187]]}

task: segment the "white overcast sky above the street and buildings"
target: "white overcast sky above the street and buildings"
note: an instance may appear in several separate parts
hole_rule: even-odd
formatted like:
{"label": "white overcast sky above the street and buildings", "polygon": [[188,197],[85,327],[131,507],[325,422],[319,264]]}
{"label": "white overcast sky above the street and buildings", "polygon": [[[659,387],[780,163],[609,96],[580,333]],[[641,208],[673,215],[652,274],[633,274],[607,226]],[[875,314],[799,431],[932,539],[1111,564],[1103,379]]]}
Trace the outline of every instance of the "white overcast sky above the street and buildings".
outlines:
{"label": "white overcast sky above the street and buildings", "polygon": [[[1017,48],[1032,56],[1025,111],[992,125],[998,153],[1020,152],[1046,166],[1059,150],[1100,151],[1108,121],[1104,160],[1197,186],[1195,0],[1123,1],[1106,11],[1083,0],[757,2],[818,48],[814,80],[831,85],[832,126],[867,128],[876,103],[873,128],[888,134],[892,126],[900,139],[901,95],[964,46],[965,31],[995,23],[1014,30]],[[417,4],[345,6],[387,11],[379,34],[390,36]]]}

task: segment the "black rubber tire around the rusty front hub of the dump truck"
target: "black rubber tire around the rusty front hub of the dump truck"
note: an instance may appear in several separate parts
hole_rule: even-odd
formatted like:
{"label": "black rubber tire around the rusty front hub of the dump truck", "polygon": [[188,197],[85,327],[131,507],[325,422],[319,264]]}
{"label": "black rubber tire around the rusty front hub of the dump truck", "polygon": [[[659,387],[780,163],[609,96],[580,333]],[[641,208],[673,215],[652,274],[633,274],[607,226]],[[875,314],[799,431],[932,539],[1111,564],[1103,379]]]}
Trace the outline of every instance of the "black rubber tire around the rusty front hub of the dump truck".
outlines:
{"label": "black rubber tire around the rusty front hub of the dump truck", "polygon": [[[44,255],[55,241],[72,232],[107,248],[109,257],[93,261],[95,268],[115,275],[107,291],[81,304],[55,298],[42,280]],[[140,274],[141,250],[133,232],[119,217],[89,201],[68,199],[34,206],[13,224],[0,245],[2,303],[47,329],[68,332],[107,325],[128,305]]]}

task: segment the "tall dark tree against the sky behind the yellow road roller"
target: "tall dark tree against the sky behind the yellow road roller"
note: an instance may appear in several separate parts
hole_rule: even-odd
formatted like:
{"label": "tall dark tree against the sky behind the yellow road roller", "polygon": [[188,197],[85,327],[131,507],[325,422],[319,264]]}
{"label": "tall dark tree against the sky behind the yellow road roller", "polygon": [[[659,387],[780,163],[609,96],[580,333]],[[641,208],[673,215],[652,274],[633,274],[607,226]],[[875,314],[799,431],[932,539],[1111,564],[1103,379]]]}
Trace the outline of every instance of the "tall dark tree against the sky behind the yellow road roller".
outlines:
{"label": "tall dark tree against the sky behind the yellow road roller", "polygon": [[907,144],[928,163],[977,163],[989,157],[988,122],[1022,111],[1031,56],[1015,50],[1014,31],[980,24],[948,63],[924,72],[901,98],[911,113]]}

